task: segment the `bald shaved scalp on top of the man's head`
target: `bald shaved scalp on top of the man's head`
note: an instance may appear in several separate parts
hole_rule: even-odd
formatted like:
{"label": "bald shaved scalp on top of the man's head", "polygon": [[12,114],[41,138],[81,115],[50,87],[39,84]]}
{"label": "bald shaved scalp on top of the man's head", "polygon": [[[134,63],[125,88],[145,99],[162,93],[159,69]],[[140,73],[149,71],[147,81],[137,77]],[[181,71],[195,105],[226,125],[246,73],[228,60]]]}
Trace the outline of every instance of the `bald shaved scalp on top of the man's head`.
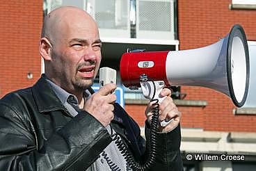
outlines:
{"label": "bald shaved scalp on top of the man's head", "polygon": [[79,26],[81,22],[97,29],[97,24],[93,17],[86,11],[72,6],[56,8],[45,16],[41,38],[48,38],[51,42],[56,42],[58,38],[62,38],[63,34],[65,34],[63,33],[64,31],[81,27]]}

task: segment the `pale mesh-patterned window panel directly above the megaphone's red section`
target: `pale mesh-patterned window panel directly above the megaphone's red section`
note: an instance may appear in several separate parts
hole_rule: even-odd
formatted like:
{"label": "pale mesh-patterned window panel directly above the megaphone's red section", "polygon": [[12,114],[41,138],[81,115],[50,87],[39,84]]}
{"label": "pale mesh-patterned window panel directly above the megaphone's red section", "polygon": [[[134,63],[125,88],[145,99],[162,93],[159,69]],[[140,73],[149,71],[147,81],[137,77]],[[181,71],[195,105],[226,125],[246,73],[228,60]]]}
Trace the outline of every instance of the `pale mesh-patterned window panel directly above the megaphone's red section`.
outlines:
{"label": "pale mesh-patterned window panel directly above the megaphone's red section", "polygon": [[137,38],[175,40],[175,1],[137,0]]}

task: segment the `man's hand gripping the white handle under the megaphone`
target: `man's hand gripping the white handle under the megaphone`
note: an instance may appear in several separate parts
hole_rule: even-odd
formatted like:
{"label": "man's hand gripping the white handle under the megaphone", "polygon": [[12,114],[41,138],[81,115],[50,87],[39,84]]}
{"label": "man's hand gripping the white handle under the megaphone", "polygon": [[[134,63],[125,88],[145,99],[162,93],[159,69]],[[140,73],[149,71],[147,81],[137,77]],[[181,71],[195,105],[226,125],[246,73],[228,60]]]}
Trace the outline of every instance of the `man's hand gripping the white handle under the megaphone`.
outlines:
{"label": "man's hand gripping the white handle under the megaphone", "polygon": [[[168,131],[172,131],[173,129],[175,129],[178,124],[179,124],[179,120],[181,117],[181,113],[178,111],[177,106],[173,103],[173,99],[170,97],[171,92],[168,88],[163,88],[163,90],[160,92],[160,97],[166,97],[166,99],[164,99],[159,108],[160,108],[160,115],[159,115],[159,122],[163,121],[163,120],[171,120],[173,119],[168,125],[166,125],[166,127],[161,127],[161,125],[159,124],[159,131],[162,132],[168,132]],[[152,109],[154,108],[154,106],[152,104],[154,104],[155,102],[152,101],[150,102],[150,104],[147,105],[147,108],[145,110],[145,115],[147,117],[147,122],[151,122],[152,119]]]}

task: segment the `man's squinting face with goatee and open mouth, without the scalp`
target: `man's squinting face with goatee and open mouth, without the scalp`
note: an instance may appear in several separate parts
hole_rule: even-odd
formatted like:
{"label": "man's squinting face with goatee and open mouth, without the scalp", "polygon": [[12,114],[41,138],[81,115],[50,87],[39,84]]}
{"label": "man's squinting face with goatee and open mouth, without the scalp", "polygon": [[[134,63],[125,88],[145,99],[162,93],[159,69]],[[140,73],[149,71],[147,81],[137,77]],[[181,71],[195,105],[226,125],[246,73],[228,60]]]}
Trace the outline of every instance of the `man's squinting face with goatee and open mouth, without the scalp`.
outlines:
{"label": "man's squinting face with goatee and open mouth, without the scalp", "polygon": [[55,82],[67,91],[93,84],[101,61],[99,33],[94,22],[73,19],[56,34],[51,51]]}

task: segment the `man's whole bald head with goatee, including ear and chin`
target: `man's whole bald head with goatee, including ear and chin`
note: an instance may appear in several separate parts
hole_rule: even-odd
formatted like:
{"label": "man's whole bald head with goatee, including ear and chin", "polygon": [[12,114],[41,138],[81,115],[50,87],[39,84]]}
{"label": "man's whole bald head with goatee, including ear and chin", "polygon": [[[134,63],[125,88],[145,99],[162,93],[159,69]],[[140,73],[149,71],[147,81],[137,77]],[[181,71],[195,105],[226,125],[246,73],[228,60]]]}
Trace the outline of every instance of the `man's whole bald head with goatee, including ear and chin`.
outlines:
{"label": "man's whole bald head with goatee, including ear and chin", "polygon": [[45,74],[67,92],[82,97],[93,84],[102,59],[94,19],[76,7],[61,7],[45,17],[39,51]]}

